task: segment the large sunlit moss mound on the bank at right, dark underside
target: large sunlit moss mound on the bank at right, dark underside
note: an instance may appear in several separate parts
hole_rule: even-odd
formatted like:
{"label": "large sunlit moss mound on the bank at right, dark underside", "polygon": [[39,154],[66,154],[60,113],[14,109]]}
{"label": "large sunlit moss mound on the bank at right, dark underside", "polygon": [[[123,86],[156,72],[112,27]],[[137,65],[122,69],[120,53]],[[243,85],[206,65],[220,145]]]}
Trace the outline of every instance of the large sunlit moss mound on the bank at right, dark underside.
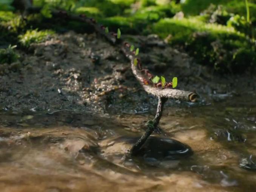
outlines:
{"label": "large sunlit moss mound on the bank at right, dark underside", "polygon": [[171,44],[184,46],[197,62],[221,72],[241,72],[255,61],[253,44],[233,27],[204,23],[191,17],[162,19],[153,25],[152,30],[162,38],[171,34]]}

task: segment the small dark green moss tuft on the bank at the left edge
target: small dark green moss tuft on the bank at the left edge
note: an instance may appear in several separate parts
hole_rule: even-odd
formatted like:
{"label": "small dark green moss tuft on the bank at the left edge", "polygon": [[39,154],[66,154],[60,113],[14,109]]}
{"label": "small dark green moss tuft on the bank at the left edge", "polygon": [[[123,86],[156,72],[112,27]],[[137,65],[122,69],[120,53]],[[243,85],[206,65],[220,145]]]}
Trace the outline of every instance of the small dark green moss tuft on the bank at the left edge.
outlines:
{"label": "small dark green moss tuft on the bank at the left edge", "polygon": [[19,59],[19,54],[14,51],[17,46],[9,45],[6,49],[0,49],[0,64],[11,64]]}

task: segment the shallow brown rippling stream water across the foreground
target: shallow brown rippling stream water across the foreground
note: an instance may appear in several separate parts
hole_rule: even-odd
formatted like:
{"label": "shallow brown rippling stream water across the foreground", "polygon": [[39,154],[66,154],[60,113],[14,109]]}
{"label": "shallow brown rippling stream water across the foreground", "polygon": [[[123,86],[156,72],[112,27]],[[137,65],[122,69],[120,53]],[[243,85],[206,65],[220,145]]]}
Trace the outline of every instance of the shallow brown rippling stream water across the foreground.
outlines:
{"label": "shallow brown rippling stream water across the foreground", "polygon": [[150,148],[171,137],[194,151],[181,159],[162,157],[165,146],[145,148],[142,157],[127,154],[151,118],[147,111],[109,118],[2,110],[1,191],[254,191],[256,172],[244,169],[255,166],[253,98],[179,106],[165,108],[154,133],[165,139],[151,140]]}

